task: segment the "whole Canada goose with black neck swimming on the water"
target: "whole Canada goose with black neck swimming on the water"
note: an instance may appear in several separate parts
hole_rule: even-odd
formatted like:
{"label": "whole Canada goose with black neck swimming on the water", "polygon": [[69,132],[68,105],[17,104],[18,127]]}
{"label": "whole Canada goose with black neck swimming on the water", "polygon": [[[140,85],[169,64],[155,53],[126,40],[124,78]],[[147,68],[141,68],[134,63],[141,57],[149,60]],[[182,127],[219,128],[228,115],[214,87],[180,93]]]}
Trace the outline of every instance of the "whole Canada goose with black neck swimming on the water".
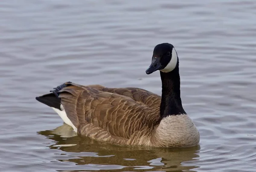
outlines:
{"label": "whole Canada goose with black neck swimming on the water", "polygon": [[189,147],[199,132],[182,107],[179,59],[169,43],[154,48],[146,74],[160,70],[162,97],[139,88],[81,86],[66,82],[36,97],[79,135],[125,145]]}

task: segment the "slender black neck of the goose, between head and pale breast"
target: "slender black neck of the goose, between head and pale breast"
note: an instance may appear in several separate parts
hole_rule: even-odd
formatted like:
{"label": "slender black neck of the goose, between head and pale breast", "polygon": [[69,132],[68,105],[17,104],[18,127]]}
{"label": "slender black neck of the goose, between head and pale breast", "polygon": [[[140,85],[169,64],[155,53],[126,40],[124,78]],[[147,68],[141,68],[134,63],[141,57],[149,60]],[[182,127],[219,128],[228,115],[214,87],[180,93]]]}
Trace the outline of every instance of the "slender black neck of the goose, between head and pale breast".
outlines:
{"label": "slender black neck of the goose, between head and pale breast", "polygon": [[160,76],[162,80],[160,117],[163,119],[169,115],[186,114],[180,99],[179,62],[171,72],[160,72]]}

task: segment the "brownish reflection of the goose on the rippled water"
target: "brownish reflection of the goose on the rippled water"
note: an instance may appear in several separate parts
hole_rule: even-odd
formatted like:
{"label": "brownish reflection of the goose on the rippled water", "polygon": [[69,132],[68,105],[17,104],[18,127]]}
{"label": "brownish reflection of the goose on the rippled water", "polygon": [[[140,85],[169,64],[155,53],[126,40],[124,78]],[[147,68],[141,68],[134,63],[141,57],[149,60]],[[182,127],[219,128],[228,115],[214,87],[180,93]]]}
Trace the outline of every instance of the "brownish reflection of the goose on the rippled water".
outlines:
{"label": "brownish reflection of the goose on the rippled water", "polygon": [[59,154],[63,158],[52,161],[72,162],[80,165],[79,169],[82,170],[193,171],[192,169],[198,167],[185,166],[183,162],[196,161],[199,158],[200,146],[191,148],[118,146],[77,136],[66,124],[54,130],[38,133],[54,140],[53,144],[47,146],[49,149],[63,151]]}

